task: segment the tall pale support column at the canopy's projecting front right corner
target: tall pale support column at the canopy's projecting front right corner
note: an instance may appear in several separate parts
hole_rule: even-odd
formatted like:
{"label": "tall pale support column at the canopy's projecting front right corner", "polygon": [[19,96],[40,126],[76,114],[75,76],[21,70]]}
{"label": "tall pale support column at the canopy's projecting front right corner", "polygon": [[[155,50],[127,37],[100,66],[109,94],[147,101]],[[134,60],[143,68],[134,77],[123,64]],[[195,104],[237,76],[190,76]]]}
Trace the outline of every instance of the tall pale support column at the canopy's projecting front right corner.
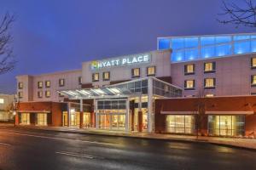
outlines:
{"label": "tall pale support column at the canopy's projecting front right corner", "polygon": [[148,78],[148,133],[153,131],[153,79]]}

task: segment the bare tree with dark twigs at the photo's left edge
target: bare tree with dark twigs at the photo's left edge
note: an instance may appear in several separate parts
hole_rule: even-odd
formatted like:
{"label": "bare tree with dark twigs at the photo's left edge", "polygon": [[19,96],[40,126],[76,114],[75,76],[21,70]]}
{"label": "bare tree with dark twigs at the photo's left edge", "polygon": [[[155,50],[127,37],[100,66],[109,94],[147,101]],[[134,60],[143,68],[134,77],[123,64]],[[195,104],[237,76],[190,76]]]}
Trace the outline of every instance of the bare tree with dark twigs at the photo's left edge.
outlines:
{"label": "bare tree with dark twigs at the photo's left edge", "polygon": [[0,21],[0,74],[15,68],[15,59],[11,42],[13,40],[9,30],[15,21],[15,16],[6,13]]}

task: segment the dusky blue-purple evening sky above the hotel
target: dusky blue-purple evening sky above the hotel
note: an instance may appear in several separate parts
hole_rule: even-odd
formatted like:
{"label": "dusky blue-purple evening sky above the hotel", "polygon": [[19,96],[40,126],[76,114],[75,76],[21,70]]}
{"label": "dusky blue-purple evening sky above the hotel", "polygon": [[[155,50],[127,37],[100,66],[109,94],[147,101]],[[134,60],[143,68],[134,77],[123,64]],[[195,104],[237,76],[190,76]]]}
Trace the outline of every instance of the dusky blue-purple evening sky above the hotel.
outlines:
{"label": "dusky blue-purple evening sky above the hotel", "polygon": [[15,14],[10,31],[18,61],[0,75],[0,94],[15,93],[18,75],[155,50],[157,37],[254,31],[219,24],[222,7],[221,0],[0,0],[1,19],[7,11]]}

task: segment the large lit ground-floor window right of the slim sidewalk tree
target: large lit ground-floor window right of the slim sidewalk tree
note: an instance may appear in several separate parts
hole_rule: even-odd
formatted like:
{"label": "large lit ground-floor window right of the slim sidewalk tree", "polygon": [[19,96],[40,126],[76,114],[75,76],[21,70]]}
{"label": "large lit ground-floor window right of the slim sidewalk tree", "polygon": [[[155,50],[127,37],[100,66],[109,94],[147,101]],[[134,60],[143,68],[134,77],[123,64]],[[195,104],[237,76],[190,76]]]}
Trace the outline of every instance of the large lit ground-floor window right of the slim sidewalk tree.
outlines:
{"label": "large lit ground-floor window right of the slim sidewalk tree", "polygon": [[210,135],[243,136],[245,131],[245,116],[208,116]]}

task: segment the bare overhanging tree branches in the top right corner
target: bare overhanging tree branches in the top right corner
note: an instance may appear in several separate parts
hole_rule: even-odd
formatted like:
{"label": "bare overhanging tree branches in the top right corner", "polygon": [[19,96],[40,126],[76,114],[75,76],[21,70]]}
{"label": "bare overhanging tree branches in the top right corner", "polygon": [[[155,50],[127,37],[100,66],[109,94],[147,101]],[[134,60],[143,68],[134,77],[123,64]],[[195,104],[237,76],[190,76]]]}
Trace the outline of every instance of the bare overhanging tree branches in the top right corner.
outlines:
{"label": "bare overhanging tree branches in the top right corner", "polygon": [[227,3],[223,1],[224,13],[221,15],[227,16],[226,20],[218,20],[222,24],[235,24],[238,26],[256,27],[256,1],[241,0],[244,5],[236,3]]}

